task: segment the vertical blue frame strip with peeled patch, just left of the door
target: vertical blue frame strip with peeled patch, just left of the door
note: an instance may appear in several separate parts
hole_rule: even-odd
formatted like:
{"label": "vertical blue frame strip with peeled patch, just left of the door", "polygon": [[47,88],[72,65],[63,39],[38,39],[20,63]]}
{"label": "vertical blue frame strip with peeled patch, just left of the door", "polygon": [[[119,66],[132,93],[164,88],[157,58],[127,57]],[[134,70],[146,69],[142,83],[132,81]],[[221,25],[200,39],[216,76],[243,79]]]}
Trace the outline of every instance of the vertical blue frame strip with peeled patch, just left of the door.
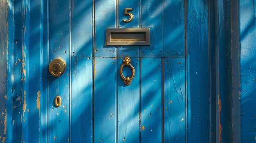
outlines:
{"label": "vertical blue frame strip with peeled patch, just left of the door", "polygon": [[[38,0],[30,0],[30,40],[29,40],[29,96],[28,100],[28,111],[29,111],[29,119],[33,120],[33,122],[29,122],[27,124],[29,130],[29,142],[42,142],[40,140],[40,121],[42,120],[40,117],[40,97],[42,94],[42,58],[40,50],[42,49],[40,42],[41,41],[41,33],[40,33],[40,25],[41,24],[41,2]],[[28,48],[28,47],[27,47]],[[42,94],[43,95],[43,94]],[[45,97],[43,97],[45,98]]]}

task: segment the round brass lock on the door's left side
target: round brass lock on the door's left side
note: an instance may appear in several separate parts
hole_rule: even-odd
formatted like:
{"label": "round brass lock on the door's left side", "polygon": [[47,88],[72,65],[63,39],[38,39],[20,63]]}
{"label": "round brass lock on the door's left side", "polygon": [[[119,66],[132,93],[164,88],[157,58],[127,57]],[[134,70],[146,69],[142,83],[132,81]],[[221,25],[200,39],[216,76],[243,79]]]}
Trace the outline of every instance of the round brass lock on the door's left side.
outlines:
{"label": "round brass lock on the door's left side", "polygon": [[66,62],[61,58],[56,58],[52,60],[49,64],[49,72],[54,77],[59,77],[65,72]]}

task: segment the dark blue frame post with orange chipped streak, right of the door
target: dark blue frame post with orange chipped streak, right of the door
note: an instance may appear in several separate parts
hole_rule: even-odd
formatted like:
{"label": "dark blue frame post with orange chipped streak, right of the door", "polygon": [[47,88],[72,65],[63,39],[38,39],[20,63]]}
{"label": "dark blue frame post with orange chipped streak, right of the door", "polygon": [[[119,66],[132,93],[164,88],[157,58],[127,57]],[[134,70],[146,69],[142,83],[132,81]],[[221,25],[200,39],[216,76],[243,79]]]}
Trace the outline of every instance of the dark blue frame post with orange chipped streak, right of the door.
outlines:
{"label": "dark blue frame post with orange chipped streak, right of the door", "polygon": [[[219,1],[218,7],[218,29],[216,37],[218,48],[216,50],[216,140],[220,143],[231,143],[233,131],[231,119],[231,1]],[[225,32],[223,32],[225,31]],[[238,105],[234,105],[238,106]]]}

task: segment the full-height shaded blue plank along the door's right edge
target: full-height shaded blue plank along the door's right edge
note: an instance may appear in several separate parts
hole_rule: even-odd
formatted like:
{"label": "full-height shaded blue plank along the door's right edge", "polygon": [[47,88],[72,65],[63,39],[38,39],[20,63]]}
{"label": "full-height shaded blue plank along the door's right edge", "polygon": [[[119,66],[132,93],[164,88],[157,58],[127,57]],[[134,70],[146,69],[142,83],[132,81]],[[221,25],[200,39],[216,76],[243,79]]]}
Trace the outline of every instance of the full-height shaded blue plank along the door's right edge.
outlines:
{"label": "full-height shaded blue plank along the door's right edge", "polygon": [[210,134],[208,1],[188,1],[187,6],[187,141],[205,143]]}

